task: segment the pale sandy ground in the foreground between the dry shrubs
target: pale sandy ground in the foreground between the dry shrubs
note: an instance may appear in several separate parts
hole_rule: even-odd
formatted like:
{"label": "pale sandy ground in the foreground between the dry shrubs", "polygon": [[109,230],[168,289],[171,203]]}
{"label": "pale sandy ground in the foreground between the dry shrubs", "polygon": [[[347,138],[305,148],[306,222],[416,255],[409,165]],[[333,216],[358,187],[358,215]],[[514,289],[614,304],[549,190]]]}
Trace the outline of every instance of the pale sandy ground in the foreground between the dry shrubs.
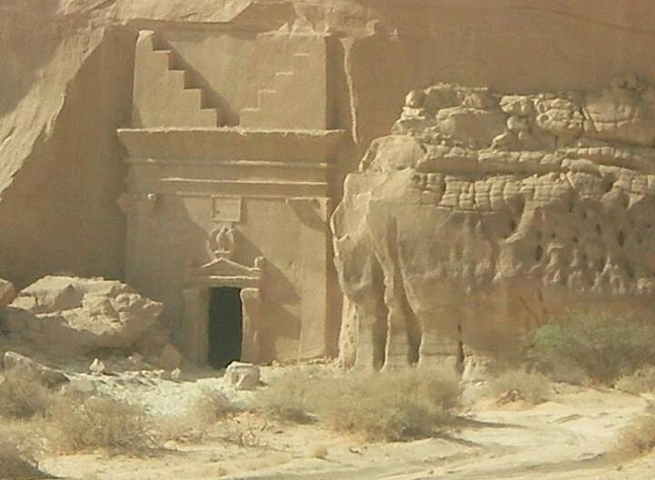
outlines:
{"label": "pale sandy ground in the foreground between the dry shrubs", "polygon": [[[203,388],[236,394],[221,378],[172,382],[156,375],[80,375],[82,385],[175,415]],[[649,399],[614,390],[556,385],[548,403],[528,407],[479,403],[449,435],[408,443],[364,445],[316,426],[278,425],[245,414],[202,438],[169,443],[143,458],[100,453],[45,458],[42,469],[76,480],[650,480],[655,457],[629,465],[606,452],[621,427]],[[175,420],[174,420],[175,421]],[[181,420],[177,420],[181,421]]]}

